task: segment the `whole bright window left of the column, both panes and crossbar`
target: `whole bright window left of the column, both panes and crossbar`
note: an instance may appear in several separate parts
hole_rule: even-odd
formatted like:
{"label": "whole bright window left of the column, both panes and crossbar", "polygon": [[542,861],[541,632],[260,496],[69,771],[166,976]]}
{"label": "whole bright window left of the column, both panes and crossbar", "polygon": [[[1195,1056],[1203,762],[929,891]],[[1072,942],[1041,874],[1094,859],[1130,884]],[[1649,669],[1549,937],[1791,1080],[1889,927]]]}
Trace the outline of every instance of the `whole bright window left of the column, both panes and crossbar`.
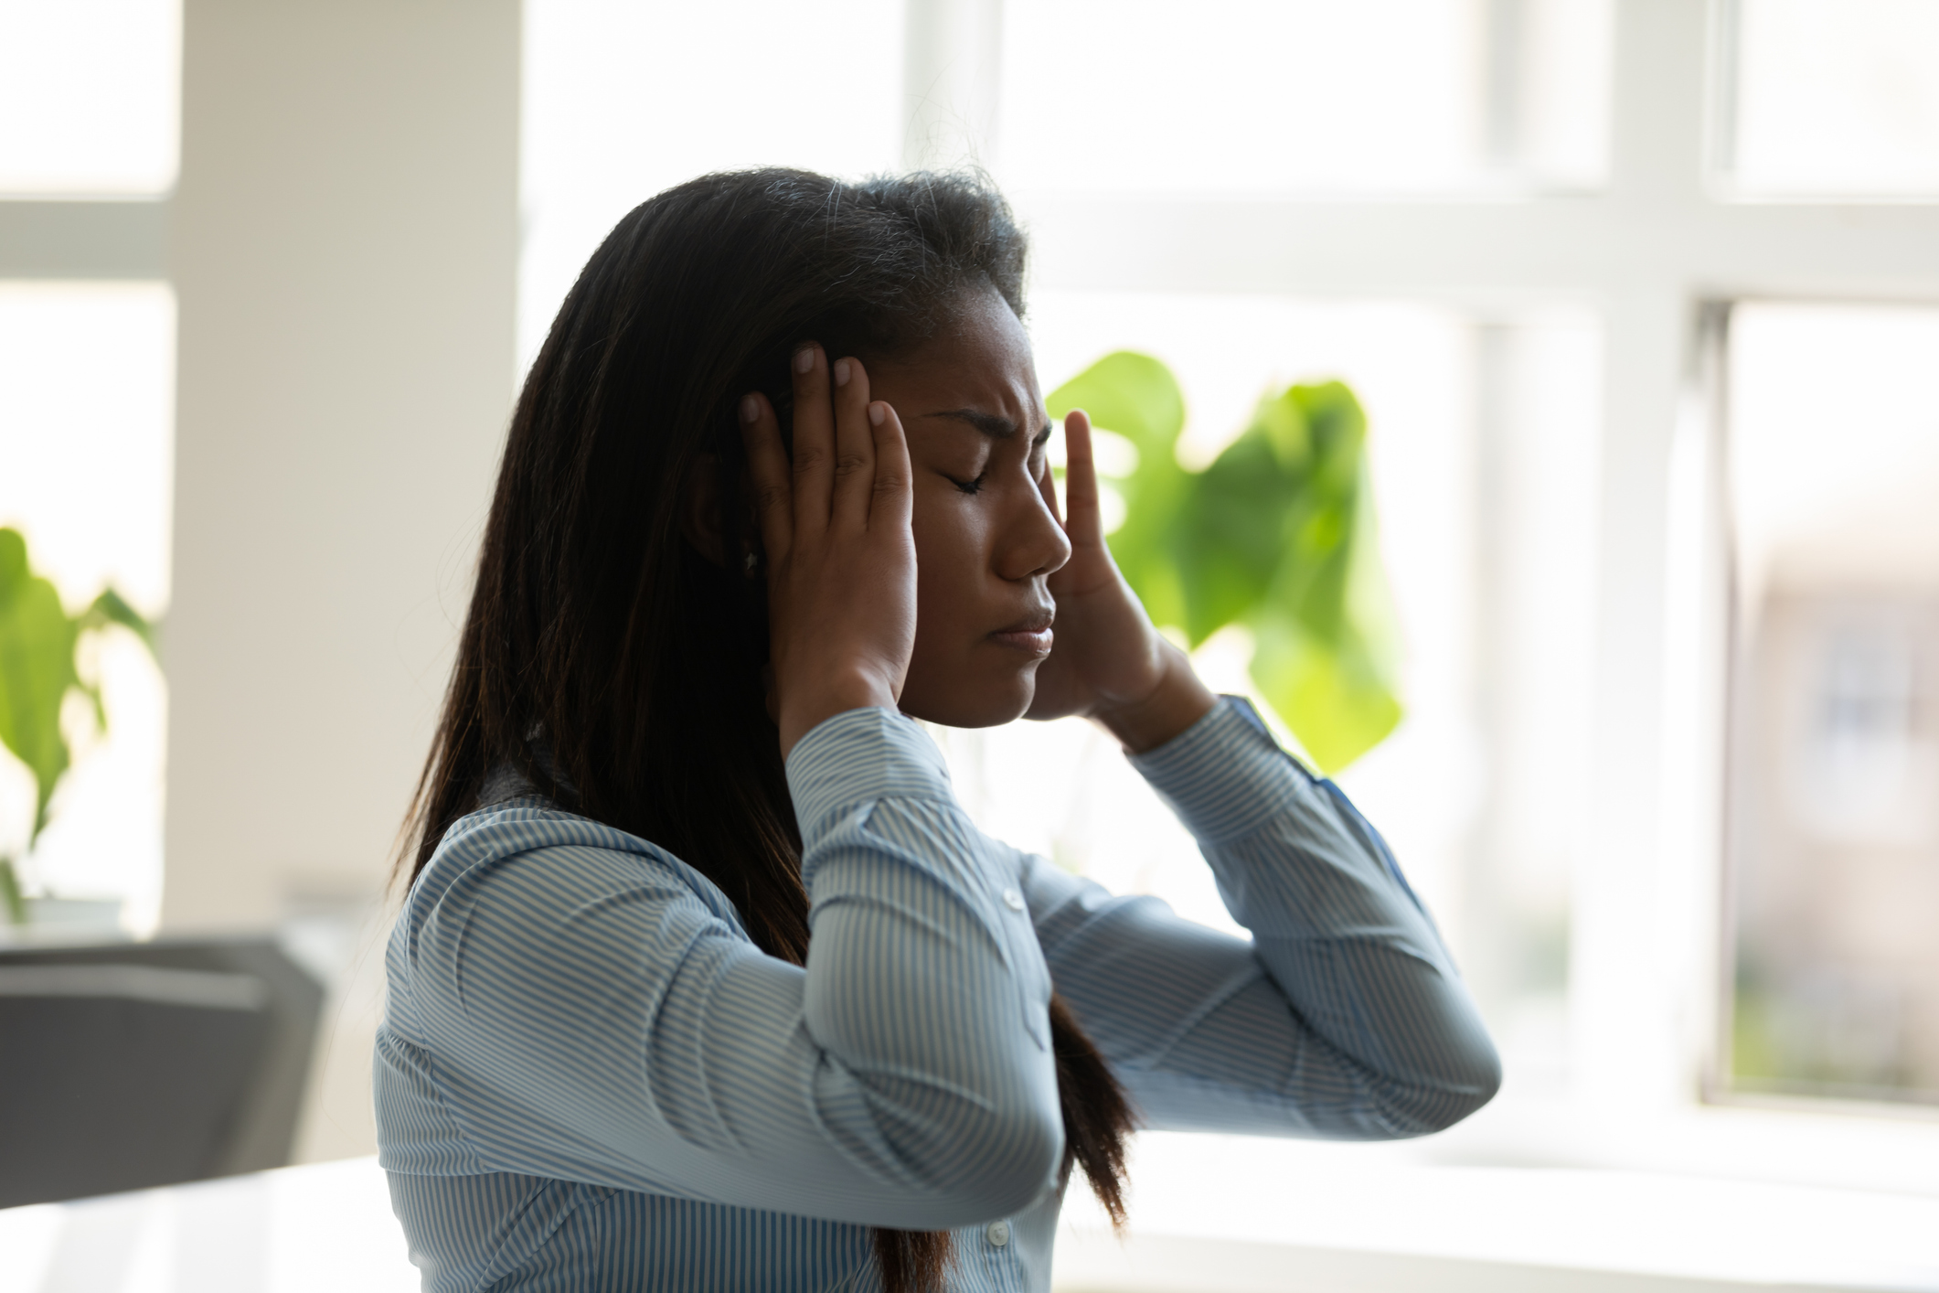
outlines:
{"label": "whole bright window left of the column, both panes and crossbar", "polygon": [[[70,611],[107,585],[151,618],[169,605],[175,297],[153,279],[178,76],[176,0],[0,2],[0,525],[25,533]],[[122,634],[83,665],[109,729],[76,742],[21,872],[29,892],[120,903],[122,927],[147,932],[167,692]],[[72,717],[74,737],[89,729]],[[17,857],[31,824],[33,779],[0,754],[0,853]]]}

